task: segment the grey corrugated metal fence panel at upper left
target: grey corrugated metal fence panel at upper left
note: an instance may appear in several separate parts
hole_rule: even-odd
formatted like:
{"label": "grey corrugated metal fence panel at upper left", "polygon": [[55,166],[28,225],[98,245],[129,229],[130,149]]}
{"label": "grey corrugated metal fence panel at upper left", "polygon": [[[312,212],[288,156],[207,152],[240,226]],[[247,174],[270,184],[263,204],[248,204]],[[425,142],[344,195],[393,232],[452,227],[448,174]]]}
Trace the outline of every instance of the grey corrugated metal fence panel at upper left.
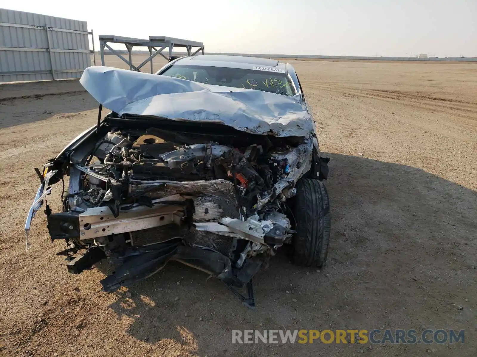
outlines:
{"label": "grey corrugated metal fence panel at upper left", "polygon": [[0,9],[0,82],[81,77],[89,35],[86,21]]}

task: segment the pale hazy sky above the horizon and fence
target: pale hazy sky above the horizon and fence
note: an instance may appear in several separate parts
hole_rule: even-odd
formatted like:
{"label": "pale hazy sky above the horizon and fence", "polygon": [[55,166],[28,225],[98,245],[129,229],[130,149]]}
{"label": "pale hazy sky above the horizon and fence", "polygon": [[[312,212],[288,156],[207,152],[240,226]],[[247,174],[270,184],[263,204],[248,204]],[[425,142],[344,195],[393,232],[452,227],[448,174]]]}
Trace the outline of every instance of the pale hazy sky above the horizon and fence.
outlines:
{"label": "pale hazy sky above the horizon and fence", "polygon": [[477,0],[0,0],[0,7],[84,20],[95,35],[202,41],[210,52],[477,56]]}

